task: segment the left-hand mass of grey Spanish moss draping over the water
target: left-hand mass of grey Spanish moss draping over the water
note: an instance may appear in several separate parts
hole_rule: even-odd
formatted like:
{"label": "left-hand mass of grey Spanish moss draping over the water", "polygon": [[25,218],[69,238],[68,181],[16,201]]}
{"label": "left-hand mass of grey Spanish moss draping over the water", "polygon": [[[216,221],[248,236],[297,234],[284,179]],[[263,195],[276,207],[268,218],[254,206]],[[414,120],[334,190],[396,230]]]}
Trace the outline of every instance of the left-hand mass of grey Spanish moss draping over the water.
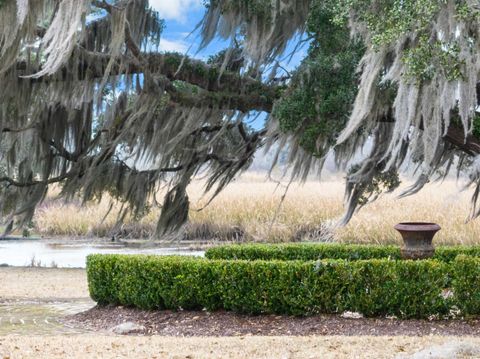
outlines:
{"label": "left-hand mass of grey Spanish moss draping over the water", "polygon": [[[0,203],[7,229],[28,223],[59,183],[66,199],[100,200],[109,192],[124,204],[119,221],[162,206],[161,235],[186,221],[192,176],[206,175],[207,189],[218,184],[218,191],[248,167],[261,137],[244,127],[228,97],[210,93],[222,88],[216,78],[195,74],[208,74],[208,65],[190,64],[187,72],[181,56],[147,51],[163,27],[147,0],[2,2]],[[163,186],[167,194],[157,201]]]}

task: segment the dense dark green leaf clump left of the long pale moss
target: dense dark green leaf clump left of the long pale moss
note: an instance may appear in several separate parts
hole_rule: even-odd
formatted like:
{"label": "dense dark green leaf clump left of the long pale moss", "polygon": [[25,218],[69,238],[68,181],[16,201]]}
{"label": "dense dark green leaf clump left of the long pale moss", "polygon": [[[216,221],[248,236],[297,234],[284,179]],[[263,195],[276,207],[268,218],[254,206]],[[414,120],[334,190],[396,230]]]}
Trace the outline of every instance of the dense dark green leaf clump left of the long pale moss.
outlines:
{"label": "dense dark green leaf clump left of the long pale moss", "polygon": [[282,132],[294,134],[300,146],[317,157],[336,143],[348,120],[357,93],[356,68],[364,52],[361,43],[351,40],[348,27],[333,23],[332,17],[324,2],[311,6],[308,56],[273,111]]}

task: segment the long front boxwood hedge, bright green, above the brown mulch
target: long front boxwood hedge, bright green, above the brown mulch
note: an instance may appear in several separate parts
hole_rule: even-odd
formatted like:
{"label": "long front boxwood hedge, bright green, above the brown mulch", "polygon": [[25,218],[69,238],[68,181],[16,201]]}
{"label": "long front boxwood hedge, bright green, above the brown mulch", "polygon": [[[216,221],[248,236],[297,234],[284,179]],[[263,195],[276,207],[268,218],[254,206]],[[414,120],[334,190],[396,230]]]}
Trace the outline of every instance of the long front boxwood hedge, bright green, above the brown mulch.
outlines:
{"label": "long front boxwood hedge, bright green, above the brown mulch", "polygon": [[[427,318],[480,310],[479,260],[228,261],[90,255],[91,297],[143,309]],[[458,295],[444,295],[449,290]],[[460,300],[461,299],[461,300]],[[458,302],[462,302],[459,306]]]}

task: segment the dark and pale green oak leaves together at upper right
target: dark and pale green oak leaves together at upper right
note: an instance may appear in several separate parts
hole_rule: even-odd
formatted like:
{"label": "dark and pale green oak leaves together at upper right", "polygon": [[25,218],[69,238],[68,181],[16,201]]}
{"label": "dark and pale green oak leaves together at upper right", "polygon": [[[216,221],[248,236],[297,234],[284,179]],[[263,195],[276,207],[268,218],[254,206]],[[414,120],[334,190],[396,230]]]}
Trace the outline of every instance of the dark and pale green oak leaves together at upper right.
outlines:
{"label": "dark and pale green oak leaves together at upper right", "polygon": [[[335,146],[352,113],[358,65],[366,50],[389,54],[385,72],[396,57],[403,62],[404,70],[394,78],[394,85],[405,80],[421,86],[435,77],[465,80],[467,69],[472,67],[465,39],[472,52],[478,39],[475,30],[455,34],[449,28],[453,20],[448,18],[463,21],[459,28],[473,29],[471,25],[480,20],[480,10],[465,0],[450,5],[447,0],[312,1],[306,23],[311,39],[308,55],[273,112],[282,132],[293,135],[316,157]],[[378,95],[389,107],[396,96],[396,89],[392,90],[382,89]]]}

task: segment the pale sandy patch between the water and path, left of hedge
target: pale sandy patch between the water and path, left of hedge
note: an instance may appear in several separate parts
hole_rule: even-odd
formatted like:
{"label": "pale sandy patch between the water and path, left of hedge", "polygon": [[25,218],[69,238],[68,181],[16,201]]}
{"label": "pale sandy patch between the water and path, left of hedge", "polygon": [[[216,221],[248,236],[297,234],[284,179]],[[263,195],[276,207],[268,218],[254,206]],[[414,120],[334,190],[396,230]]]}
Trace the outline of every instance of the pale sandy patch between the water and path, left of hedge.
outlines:
{"label": "pale sandy patch between the water and path, left of hedge", "polygon": [[88,297],[84,269],[0,268],[0,300]]}

